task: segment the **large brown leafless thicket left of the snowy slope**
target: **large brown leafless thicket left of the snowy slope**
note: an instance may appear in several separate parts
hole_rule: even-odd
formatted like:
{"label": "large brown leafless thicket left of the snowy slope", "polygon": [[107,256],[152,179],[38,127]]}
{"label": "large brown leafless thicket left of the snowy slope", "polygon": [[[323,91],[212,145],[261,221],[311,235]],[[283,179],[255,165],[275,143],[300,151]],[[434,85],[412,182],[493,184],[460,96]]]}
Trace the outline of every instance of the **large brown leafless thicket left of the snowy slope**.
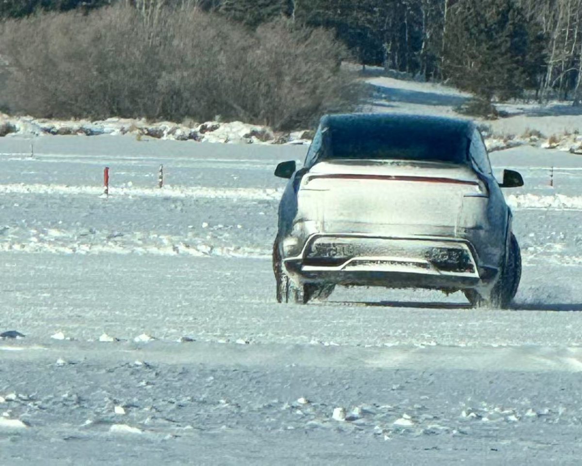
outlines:
{"label": "large brown leafless thicket left of the snowy slope", "polygon": [[118,5],[4,22],[10,107],[49,118],[221,115],[285,129],[357,100],[331,33],[283,20],[249,31],[184,5],[155,20]]}

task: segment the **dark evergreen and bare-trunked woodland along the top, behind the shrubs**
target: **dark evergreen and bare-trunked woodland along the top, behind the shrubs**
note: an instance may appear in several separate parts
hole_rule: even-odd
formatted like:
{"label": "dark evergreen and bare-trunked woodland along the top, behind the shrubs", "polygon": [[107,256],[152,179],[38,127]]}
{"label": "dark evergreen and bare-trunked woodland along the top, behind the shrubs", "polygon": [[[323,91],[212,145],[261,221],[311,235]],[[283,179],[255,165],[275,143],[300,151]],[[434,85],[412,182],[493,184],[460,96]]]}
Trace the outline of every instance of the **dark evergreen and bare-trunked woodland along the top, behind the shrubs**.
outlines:
{"label": "dark evergreen and bare-trunked woodland along the top, behind the shrubs", "polygon": [[334,30],[363,65],[450,80],[485,100],[531,89],[582,103],[582,0],[3,0],[0,17],[116,2],[150,13],[187,4],[250,29],[287,16]]}

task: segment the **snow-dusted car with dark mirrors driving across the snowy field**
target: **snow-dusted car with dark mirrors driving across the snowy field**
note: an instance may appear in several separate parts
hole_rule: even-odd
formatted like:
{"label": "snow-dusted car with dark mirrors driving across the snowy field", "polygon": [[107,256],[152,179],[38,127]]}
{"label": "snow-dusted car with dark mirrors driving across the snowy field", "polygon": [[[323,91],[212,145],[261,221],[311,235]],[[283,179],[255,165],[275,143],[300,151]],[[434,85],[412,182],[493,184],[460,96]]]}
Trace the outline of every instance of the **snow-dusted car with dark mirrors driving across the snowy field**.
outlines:
{"label": "snow-dusted car with dark mirrors driving across the snowy field", "polygon": [[469,121],[326,115],[288,178],[273,248],[279,302],[326,298],[335,285],[462,290],[505,308],[521,276],[512,213]]}

